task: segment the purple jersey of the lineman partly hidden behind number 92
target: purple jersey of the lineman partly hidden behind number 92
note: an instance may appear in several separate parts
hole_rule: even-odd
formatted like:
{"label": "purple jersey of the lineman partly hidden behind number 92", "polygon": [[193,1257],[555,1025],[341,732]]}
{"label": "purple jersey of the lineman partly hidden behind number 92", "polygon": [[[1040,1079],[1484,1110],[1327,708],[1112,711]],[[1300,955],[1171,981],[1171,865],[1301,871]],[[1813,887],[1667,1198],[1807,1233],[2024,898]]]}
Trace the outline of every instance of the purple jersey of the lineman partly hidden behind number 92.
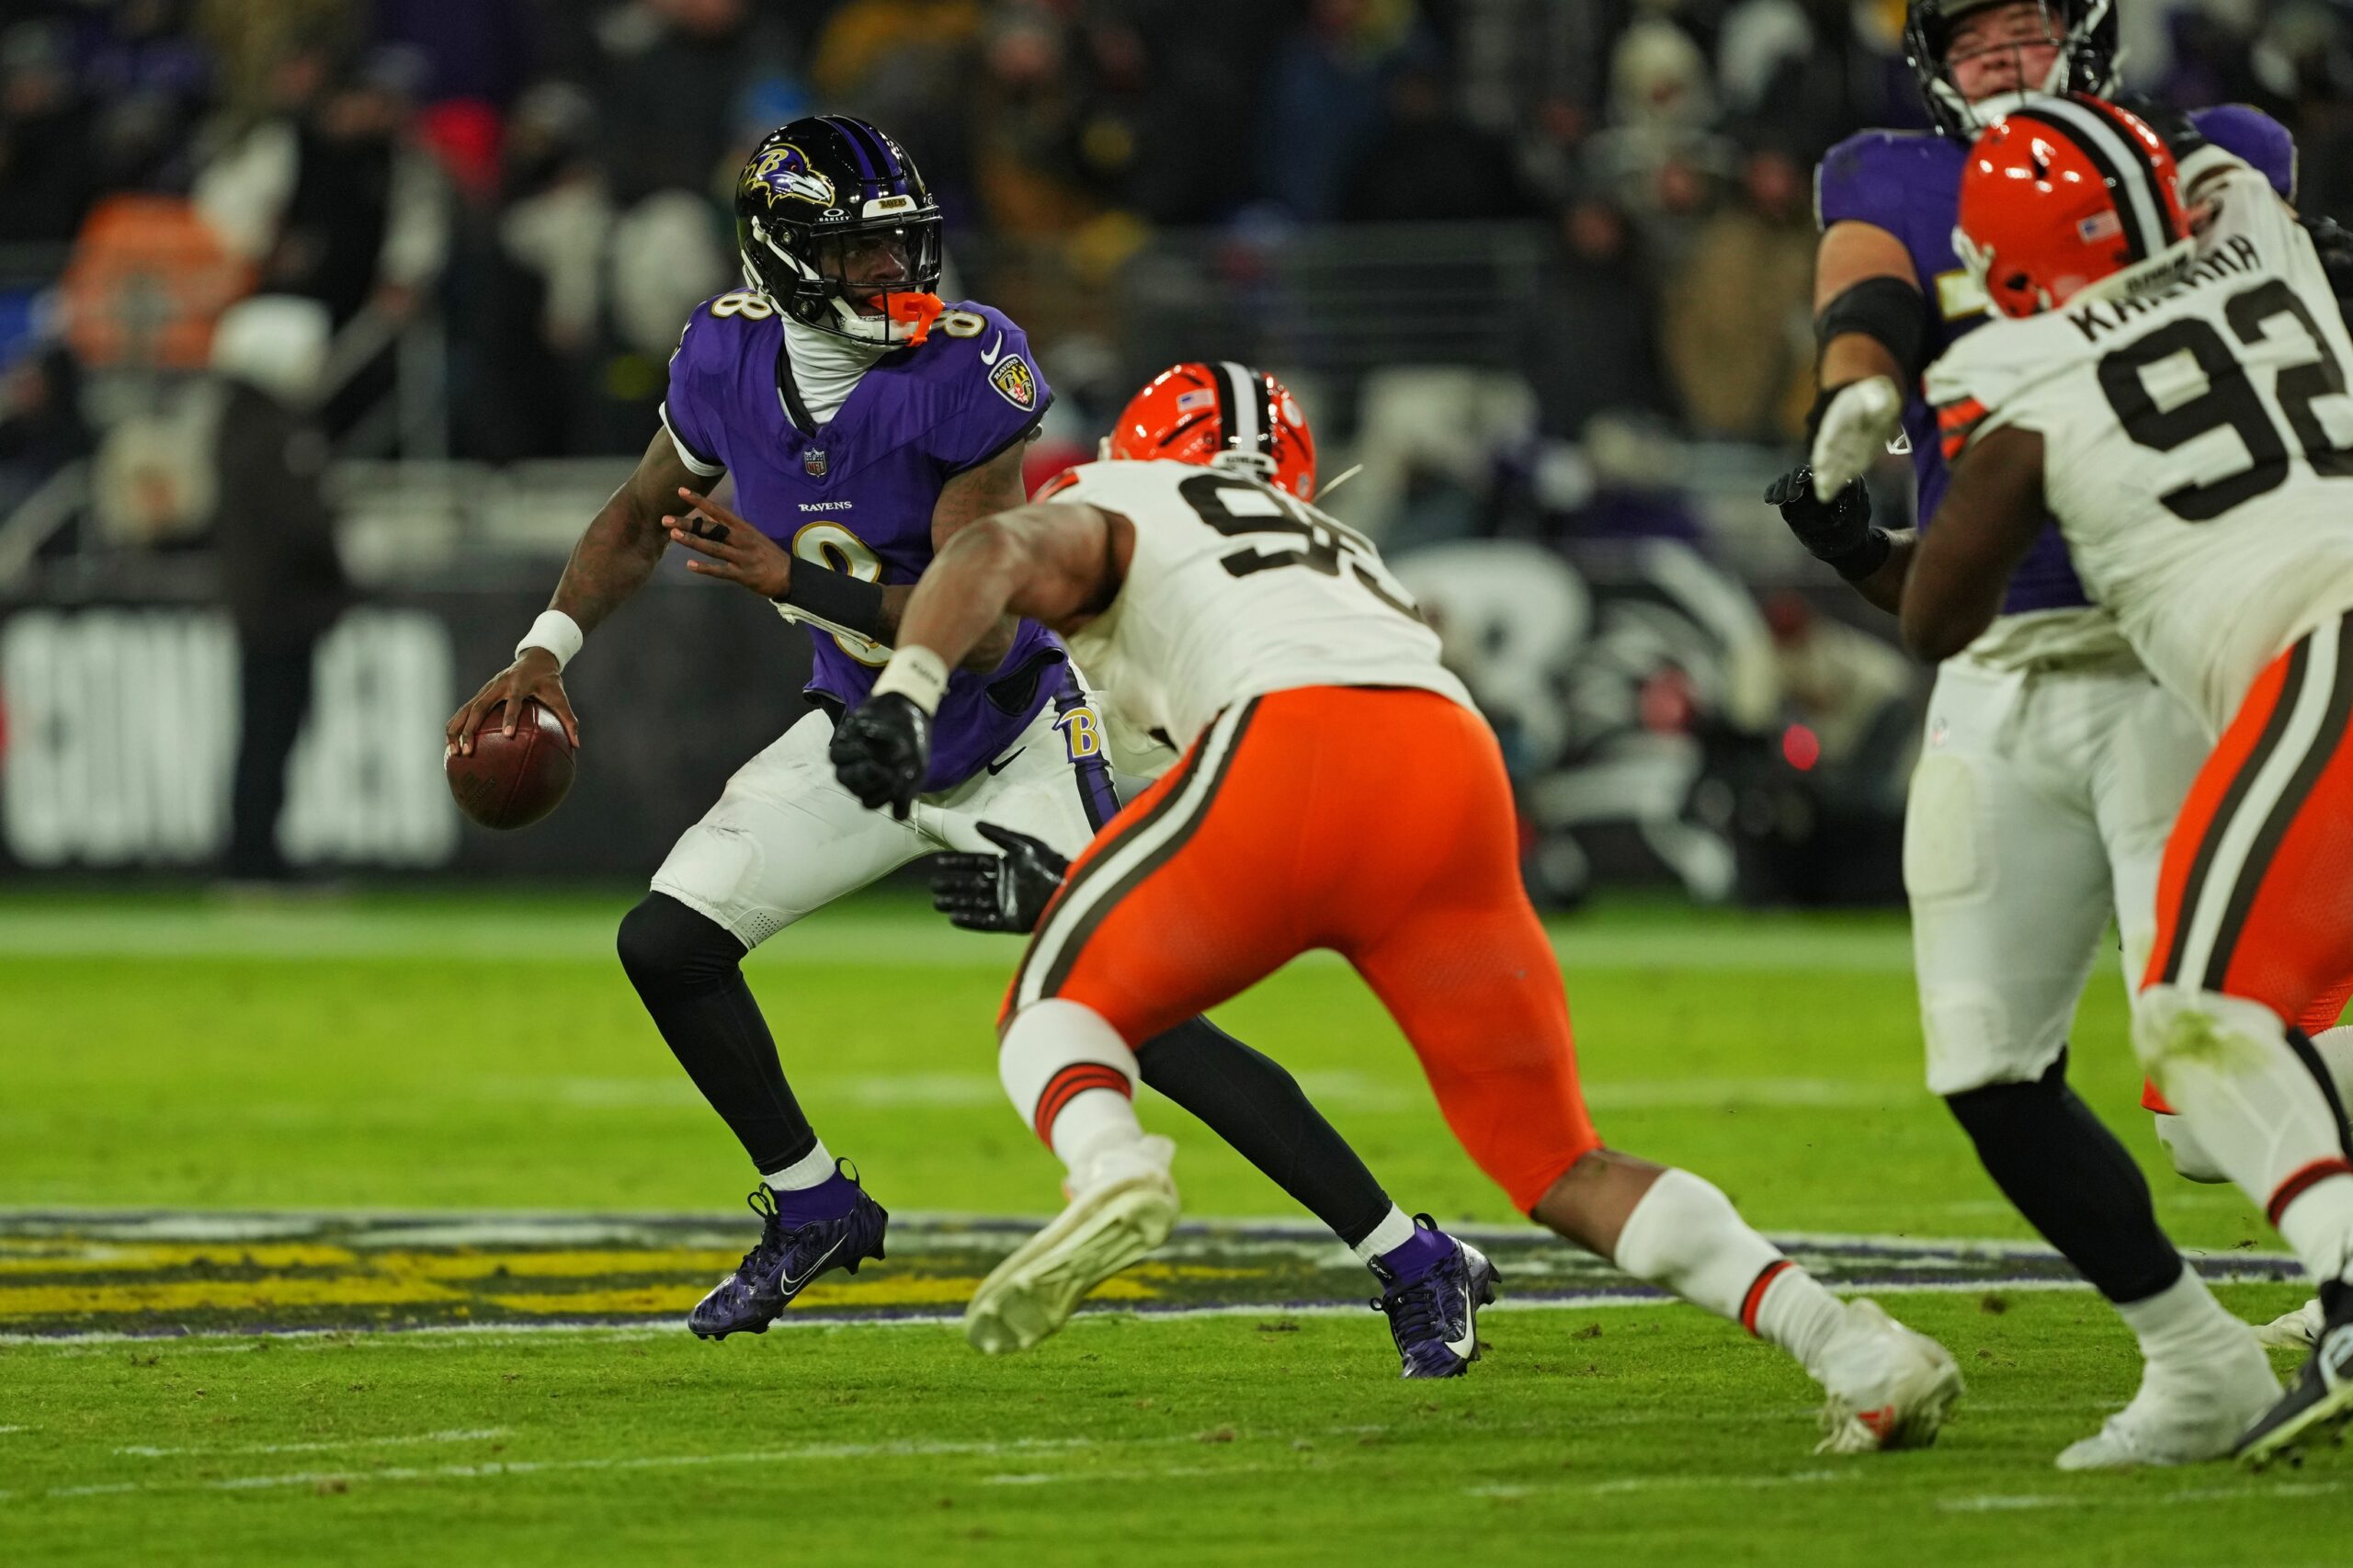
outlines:
{"label": "purple jersey of the lineman partly hidden behind number 92", "polygon": [[[2259,167],[2280,195],[2294,195],[2297,144],[2278,120],[2240,104],[2205,108],[2191,120],[2207,141]],[[1953,254],[1953,217],[1960,212],[1960,167],[1967,153],[1962,141],[1934,132],[1861,132],[1833,146],[1814,172],[1814,217],[1824,228],[1852,219],[1904,240],[1927,306],[1929,360],[1986,323],[1986,297]],[[1925,527],[1944,501],[1944,450],[1937,440],[1937,410],[1920,398],[1918,386],[1906,391],[1904,438],[1911,443]],[[2059,525],[2047,523],[2009,579],[2002,612],[2071,610],[2087,603]]]}

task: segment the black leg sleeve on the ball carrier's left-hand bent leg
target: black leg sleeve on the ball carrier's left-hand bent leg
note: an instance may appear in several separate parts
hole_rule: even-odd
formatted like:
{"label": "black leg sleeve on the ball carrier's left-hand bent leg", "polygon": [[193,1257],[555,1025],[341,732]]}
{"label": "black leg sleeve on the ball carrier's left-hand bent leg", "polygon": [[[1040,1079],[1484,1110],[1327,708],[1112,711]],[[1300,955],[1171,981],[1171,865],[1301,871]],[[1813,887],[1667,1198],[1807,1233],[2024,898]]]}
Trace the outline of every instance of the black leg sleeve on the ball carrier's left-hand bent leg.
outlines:
{"label": "black leg sleeve on the ball carrier's left-hand bent leg", "polygon": [[664,892],[621,916],[621,968],[654,1026],[758,1170],[784,1170],[816,1147],[784,1081],[776,1041],[744,982],[744,944]]}

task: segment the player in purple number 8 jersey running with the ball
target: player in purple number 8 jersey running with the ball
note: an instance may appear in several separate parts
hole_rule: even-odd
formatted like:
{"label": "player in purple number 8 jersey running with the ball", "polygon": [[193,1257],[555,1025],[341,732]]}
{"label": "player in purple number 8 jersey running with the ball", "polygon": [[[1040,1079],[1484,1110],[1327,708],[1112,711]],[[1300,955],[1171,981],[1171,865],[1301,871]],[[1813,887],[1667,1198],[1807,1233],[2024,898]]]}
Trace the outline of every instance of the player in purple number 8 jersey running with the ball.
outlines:
{"label": "player in purple number 8 jersey running with the ball", "polygon": [[[880,1257],[887,1224],[793,1099],[744,954],[920,855],[986,850],[984,817],[1075,855],[1118,810],[1068,655],[1012,619],[953,676],[913,812],[868,812],[835,782],[835,720],[889,659],[934,549],[1024,504],[1021,447],[1052,391],[1014,323],[932,294],[939,205],[864,120],[816,115],[760,141],[736,186],[736,238],[746,287],[687,320],[664,428],[588,525],[515,662],[449,720],[449,744],[468,749],[499,704],[513,730],[522,699],[539,699],[576,742],[562,666],[652,574],[673,530],[739,532],[755,586],[816,638],[816,711],[729,779],[621,921],[638,996],[760,1172],[760,1241],[689,1314],[704,1337],[765,1333],[809,1281]],[[758,525],[704,499],[722,473]],[[1454,1243],[1388,1201],[1282,1067],[1207,1019],[1148,1041],[1139,1062],[1374,1269],[1405,1375],[1464,1370],[1442,1333],[1419,1328],[1442,1321],[1421,1297]]]}

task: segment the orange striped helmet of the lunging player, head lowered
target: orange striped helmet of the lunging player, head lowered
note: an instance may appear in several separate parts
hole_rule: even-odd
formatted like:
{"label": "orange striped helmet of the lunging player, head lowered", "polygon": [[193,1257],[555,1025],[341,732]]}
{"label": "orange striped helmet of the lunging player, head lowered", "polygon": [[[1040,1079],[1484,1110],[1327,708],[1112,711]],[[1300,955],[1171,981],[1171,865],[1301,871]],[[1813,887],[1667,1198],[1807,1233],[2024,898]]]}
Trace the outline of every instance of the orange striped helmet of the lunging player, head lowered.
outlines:
{"label": "orange striped helmet of the lunging player, head lowered", "polygon": [[1104,457],[1252,473],[1315,499],[1315,433],[1292,391],[1233,360],[1169,365],[1127,400]]}

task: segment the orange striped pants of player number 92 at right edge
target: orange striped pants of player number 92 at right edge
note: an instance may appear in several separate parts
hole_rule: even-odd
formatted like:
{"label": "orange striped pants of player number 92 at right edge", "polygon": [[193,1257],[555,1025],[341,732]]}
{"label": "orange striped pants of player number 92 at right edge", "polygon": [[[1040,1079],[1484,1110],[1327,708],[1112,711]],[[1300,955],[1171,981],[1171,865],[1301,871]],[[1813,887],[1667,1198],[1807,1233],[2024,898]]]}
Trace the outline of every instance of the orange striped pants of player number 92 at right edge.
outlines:
{"label": "orange striped pants of player number 92 at right edge", "polygon": [[[2322,633],[2264,666],[2198,770],[2141,975],[2259,1001],[2304,1034],[2334,1029],[2353,994],[2353,624]],[[2141,1104],[2169,1109],[2155,1085]]]}

